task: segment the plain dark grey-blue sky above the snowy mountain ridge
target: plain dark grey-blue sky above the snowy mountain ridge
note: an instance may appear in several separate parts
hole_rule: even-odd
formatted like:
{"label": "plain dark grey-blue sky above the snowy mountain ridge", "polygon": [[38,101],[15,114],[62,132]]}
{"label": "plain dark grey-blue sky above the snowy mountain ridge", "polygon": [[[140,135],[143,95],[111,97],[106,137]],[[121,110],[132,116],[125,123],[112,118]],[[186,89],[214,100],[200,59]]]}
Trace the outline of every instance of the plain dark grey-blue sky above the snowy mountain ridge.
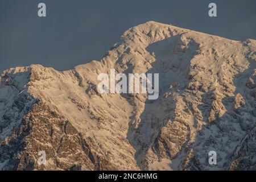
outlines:
{"label": "plain dark grey-blue sky above the snowy mountain ridge", "polygon": [[[47,17],[38,17],[38,3]],[[217,18],[208,16],[210,2]],[[100,59],[125,30],[173,24],[234,40],[256,39],[255,0],[0,0],[0,72],[30,64],[58,70]]]}

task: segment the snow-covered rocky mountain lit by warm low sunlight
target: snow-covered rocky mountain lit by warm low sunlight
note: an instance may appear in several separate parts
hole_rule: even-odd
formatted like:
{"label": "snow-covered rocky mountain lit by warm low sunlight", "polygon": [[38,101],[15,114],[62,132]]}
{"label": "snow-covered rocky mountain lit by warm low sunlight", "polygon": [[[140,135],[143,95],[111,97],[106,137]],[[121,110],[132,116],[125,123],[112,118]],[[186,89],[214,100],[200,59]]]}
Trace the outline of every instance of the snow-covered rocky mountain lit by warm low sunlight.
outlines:
{"label": "snow-covered rocky mountain lit by warm low sunlight", "polygon": [[[159,73],[158,100],[99,94],[97,76],[112,68]],[[255,40],[147,22],[100,61],[64,72],[42,65],[3,72],[0,169],[256,169],[255,124]]]}

